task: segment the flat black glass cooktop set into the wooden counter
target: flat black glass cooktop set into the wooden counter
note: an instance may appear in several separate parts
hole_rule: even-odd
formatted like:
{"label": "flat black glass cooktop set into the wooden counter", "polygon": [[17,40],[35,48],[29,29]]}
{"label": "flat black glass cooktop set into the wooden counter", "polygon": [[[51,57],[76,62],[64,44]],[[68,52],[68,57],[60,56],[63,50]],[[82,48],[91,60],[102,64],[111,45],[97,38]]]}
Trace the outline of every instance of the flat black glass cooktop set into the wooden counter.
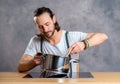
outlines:
{"label": "flat black glass cooktop set into the wooden counter", "polygon": [[80,72],[80,73],[71,73],[63,74],[63,73],[53,73],[53,72],[29,72],[23,78],[94,78],[90,72]]}

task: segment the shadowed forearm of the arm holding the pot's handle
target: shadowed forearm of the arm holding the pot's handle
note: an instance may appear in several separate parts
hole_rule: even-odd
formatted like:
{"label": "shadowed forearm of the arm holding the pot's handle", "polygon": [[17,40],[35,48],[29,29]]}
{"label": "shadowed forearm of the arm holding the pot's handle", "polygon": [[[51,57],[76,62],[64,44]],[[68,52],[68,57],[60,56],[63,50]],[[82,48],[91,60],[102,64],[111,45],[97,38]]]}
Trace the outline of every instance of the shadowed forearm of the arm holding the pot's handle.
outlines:
{"label": "shadowed forearm of the arm holding the pot's handle", "polygon": [[33,60],[29,60],[29,61],[20,61],[18,64],[18,71],[19,72],[26,72],[31,70],[32,68],[34,68],[35,66],[37,66]]}

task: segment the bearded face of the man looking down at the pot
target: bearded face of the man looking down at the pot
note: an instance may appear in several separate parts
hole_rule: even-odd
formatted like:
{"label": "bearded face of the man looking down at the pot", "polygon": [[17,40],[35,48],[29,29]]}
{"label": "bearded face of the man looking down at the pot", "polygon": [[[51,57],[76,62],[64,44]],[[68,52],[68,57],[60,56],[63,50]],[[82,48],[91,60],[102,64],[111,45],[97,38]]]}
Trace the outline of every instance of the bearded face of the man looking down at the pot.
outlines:
{"label": "bearded face of the man looking down at the pot", "polygon": [[55,32],[55,20],[48,13],[43,13],[38,16],[36,18],[36,24],[44,37],[50,38],[53,36]]}

